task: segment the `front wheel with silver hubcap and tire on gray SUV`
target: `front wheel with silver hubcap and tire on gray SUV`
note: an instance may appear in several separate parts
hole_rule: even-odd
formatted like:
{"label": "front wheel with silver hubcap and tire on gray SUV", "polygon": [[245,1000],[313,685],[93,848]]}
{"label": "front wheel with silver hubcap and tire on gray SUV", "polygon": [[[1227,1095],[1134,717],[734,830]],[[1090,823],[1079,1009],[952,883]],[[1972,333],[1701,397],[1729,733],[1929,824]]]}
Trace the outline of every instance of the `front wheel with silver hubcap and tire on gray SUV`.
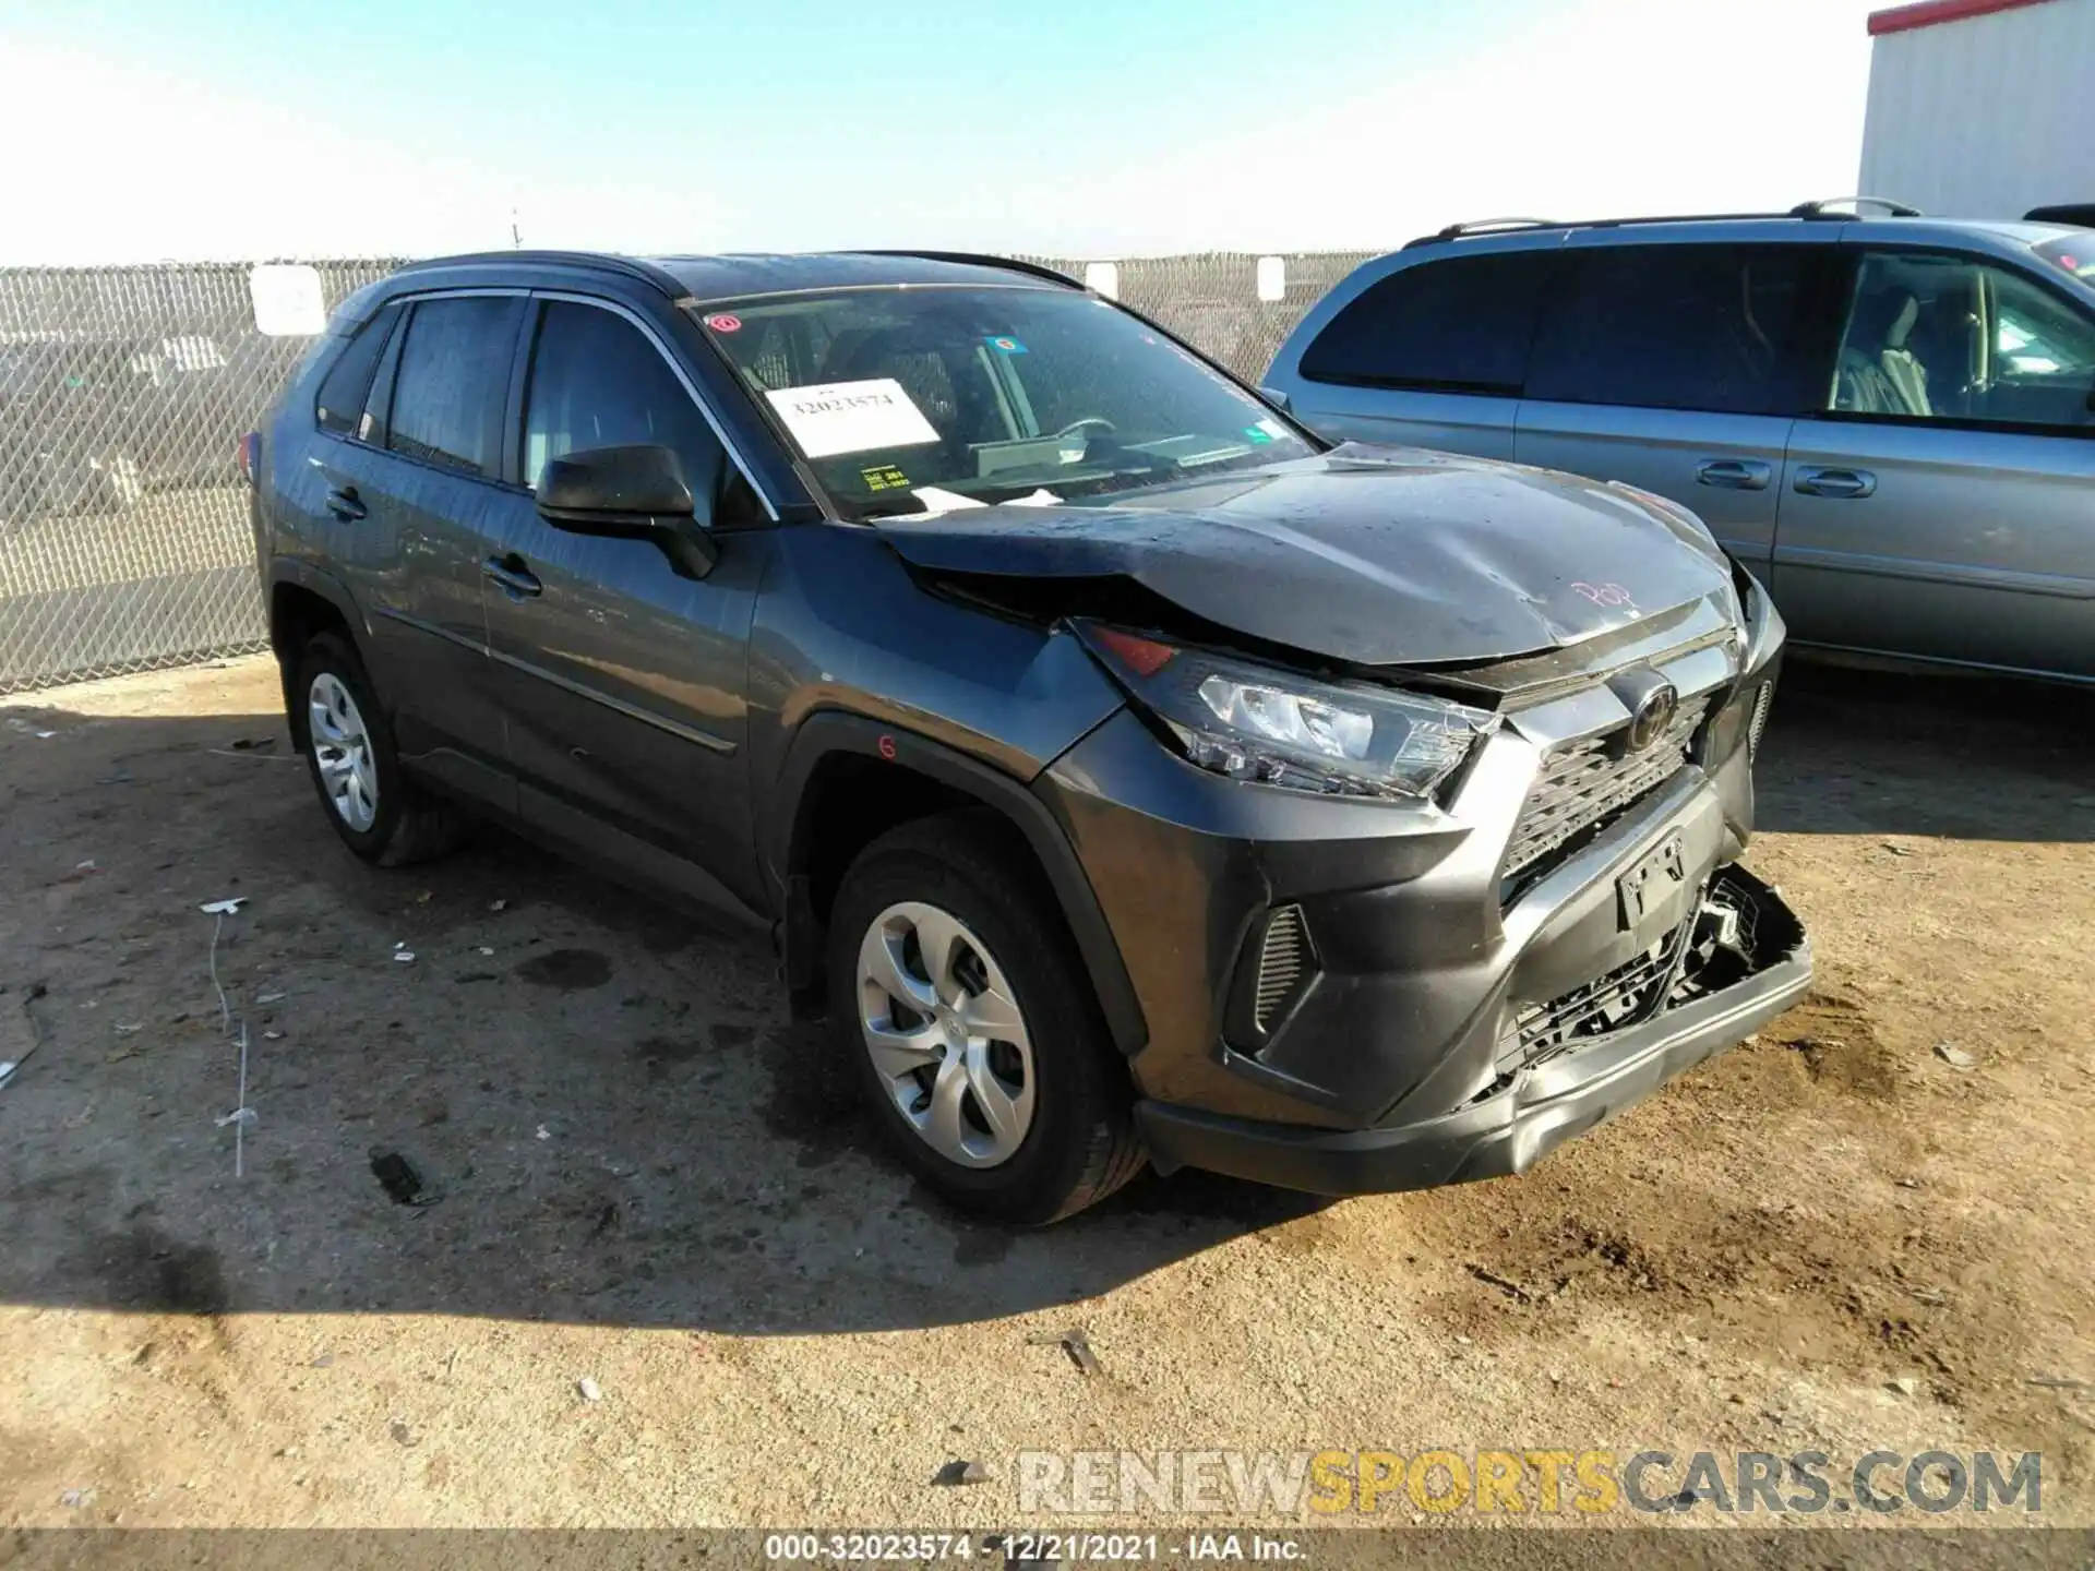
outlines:
{"label": "front wheel with silver hubcap and tire on gray SUV", "polygon": [[830,915],[828,982],[874,1116],[951,1204],[1045,1223],[1142,1171],[1091,980],[991,815],[905,823],[859,855]]}

